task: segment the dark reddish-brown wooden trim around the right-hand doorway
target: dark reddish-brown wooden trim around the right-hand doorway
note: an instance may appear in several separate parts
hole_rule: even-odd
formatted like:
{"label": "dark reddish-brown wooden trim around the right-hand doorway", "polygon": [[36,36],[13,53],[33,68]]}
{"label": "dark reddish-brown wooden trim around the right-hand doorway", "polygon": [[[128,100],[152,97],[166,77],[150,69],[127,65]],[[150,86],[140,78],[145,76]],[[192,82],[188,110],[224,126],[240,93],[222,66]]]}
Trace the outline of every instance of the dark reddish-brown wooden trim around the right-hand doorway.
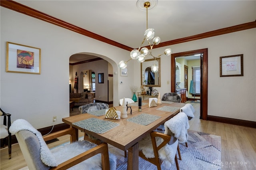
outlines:
{"label": "dark reddish-brown wooden trim around the right-hand doorway", "polygon": [[171,92],[175,93],[175,58],[183,57],[201,53],[203,57],[201,59],[202,67],[202,83],[201,83],[201,102],[200,102],[200,117],[203,120],[208,118],[208,48],[197,49],[192,51],[185,51],[180,53],[173,53],[171,55]]}

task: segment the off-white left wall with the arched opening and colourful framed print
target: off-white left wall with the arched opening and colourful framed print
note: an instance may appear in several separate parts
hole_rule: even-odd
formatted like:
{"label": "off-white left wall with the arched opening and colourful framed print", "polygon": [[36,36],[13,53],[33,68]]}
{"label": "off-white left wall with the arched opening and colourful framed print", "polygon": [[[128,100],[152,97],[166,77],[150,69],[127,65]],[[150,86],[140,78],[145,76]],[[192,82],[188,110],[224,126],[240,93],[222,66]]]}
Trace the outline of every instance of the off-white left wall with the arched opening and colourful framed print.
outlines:
{"label": "off-white left wall with the arched opening and colourful framed print", "polygon": [[[98,54],[111,63],[114,72],[118,72],[113,77],[114,88],[117,89],[114,105],[118,105],[123,95],[130,95],[124,90],[120,95],[118,89],[129,88],[134,79],[125,77],[127,83],[121,87],[118,83],[120,69],[117,67],[120,60],[127,59],[129,51],[3,7],[0,12],[0,107],[12,114],[12,121],[26,119],[35,128],[42,128],[52,125],[52,117],[57,116],[56,124],[63,123],[62,118],[69,116],[68,84],[70,76],[73,76],[69,73],[69,57],[75,53]],[[40,48],[41,74],[7,73],[6,42]],[[133,75],[132,67],[128,67],[130,75]]]}

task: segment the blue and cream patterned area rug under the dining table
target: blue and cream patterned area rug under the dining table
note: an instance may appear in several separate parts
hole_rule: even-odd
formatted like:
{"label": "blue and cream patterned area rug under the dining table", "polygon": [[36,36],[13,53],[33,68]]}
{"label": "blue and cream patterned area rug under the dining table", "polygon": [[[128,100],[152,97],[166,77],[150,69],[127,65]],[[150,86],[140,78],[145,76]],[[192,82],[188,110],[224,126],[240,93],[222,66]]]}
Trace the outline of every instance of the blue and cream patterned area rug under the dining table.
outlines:
{"label": "blue and cream patterned area rug under the dining table", "polygon": [[[186,147],[185,144],[179,144],[179,146],[182,160],[178,159],[178,163],[181,170],[221,169],[220,136],[188,130],[188,147]],[[116,155],[116,170],[126,170],[128,156],[124,158],[124,151],[109,145],[109,152]],[[161,166],[161,168],[162,170],[166,170],[164,166]],[[28,167],[24,167],[20,170],[28,170]],[[139,170],[157,170],[157,168],[154,164],[139,157]],[[173,165],[169,170],[176,170],[176,165]]]}

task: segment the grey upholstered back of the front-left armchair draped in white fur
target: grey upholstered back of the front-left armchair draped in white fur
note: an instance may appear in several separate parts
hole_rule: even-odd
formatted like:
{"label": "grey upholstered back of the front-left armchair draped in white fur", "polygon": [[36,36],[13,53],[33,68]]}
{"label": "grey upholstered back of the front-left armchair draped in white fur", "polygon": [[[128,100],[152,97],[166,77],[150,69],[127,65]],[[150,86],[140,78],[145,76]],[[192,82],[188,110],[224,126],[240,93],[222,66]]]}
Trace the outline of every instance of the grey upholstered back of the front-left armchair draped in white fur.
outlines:
{"label": "grey upholstered back of the front-left armchair draped in white fur", "polygon": [[30,132],[29,130],[20,130],[15,136],[28,165],[28,169],[49,170],[51,168],[42,162],[40,156],[40,143],[33,132]]}

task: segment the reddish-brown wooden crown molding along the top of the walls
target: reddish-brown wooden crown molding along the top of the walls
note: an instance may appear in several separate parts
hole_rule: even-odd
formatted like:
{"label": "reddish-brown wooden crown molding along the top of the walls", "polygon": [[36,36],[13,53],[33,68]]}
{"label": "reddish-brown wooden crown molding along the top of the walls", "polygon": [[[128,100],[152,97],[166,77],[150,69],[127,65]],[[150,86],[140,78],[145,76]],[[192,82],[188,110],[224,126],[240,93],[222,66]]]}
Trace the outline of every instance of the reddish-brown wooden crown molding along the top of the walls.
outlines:
{"label": "reddish-brown wooden crown molding along the top of the walls", "polygon": [[[110,40],[108,38],[105,38],[103,36],[95,34],[93,32],[90,32],[90,31],[85,30],[83,28],[80,28],[78,26],[69,24],[68,22],[59,20],[58,18],[54,18],[53,16],[50,16],[48,14],[45,14],[43,12],[40,12],[38,10],[35,10],[33,8],[30,8],[28,6],[20,4],[18,2],[15,2],[15,1],[12,1],[12,0],[1,0],[0,4],[1,4],[2,7],[8,8],[10,10],[14,10],[16,12],[20,12],[22,14],[26,14],[28,16],[37,18],[39,20],[43,20],[45,22],[49,22],[51,24],[54,24],[56,26],[60,26],[62,28],[66,28],[68,30],[77,32],[78,34],[82,34],[84,36],[93,38],[95,40],[99,40],[101,42],[105,42],[105,43],[108,43],[110,45],[114,45],[116,47],[119,47],[119,48],[122,48],[122,49],[125,49],[125,50],[128,50],[128,51],[132,51],[132,49],[133,49],[131,47],[128,47],[128,46],[123,45],[121,43],[115,42],[113,40]],[[232,33],[232,32],[247,30],[247,29],[251,29],[251,28],[256,28],[256,20],[254,22],[248,22],[248,23],[244,23],[244,24],[240,24],[240,25],[236,25],[236,26],[231,26],[231,27],[222,28],[222,29],[219,29],[219,30],[205,32],[205,33],[202,33],[202,34],[197,34],[197,35],[194,35],[194,36],[189,36],[189,37],[185,37],[185,38],[179,38],[179,39],[176,39],[176,40],[170,40],[170,41],[167,41],[167,42],[162,42],[162,43],[159,43],[157,45],[157,47],[154,46],[154,48],[165,47],[165,46],[168,46],[168,45],[190,42],[190,41],[194,41],[194,40],[200,40],[200,39],[203,39],[203,38],[209,38],[209,37],[213,37],[213,36],[229,34],[229,33]],[[146,47],[149,47],[149,46],[146,46]]]}

